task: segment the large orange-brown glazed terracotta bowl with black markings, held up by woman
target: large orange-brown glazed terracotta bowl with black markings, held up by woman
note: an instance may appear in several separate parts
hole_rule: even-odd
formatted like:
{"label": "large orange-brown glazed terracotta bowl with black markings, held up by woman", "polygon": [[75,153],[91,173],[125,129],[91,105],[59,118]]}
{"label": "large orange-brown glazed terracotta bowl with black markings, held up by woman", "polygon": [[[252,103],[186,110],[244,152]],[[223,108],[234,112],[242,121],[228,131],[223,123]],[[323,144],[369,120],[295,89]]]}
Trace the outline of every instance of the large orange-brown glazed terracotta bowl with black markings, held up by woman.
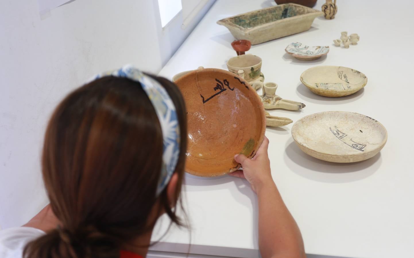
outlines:
{"label": "large orange-brown glazed terracotta bowl with black markings, held up by woman", "polygon": [[262,102],[247,81],[222,69],[197,69],[175,81],[188,112],[185,171],[215,177],[238,170],[234,155],[252,158],[263,141]]}

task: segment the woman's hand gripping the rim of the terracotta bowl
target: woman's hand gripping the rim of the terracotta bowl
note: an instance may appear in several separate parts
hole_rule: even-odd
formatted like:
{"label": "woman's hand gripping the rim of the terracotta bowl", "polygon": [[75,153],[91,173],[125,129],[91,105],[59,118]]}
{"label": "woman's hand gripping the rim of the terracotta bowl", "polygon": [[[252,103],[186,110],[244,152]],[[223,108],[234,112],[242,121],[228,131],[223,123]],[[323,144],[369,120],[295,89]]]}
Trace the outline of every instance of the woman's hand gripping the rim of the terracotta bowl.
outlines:
{"label": "woman's hand gripping the rim of the terracotta bowl", "polygon": [[241,177],[247,179],[253,191],[260,191],[263,186],[273,184],[272,174],[270,173],[270,160],[267,154],[269,139],[265,136],[262,145],[253,159],[247,158],[243,154],[234,156],[234,160],[240,163],[243,170],[236,170],[230,173],[230,176]]}

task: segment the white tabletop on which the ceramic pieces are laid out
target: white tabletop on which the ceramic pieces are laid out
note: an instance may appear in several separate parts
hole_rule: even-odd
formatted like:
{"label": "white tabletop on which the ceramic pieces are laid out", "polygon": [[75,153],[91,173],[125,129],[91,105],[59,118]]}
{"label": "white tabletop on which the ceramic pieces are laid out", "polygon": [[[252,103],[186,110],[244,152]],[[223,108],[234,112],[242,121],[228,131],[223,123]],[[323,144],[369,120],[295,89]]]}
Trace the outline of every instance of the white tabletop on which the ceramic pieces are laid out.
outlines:
{"label": "white tabletop on which the ceramic pieces are laid out", "polygon": [[[315,9],[323,4],[318,1]],[[235,56],[233,36],[216,21],[275,5],[273,0],[217,0],[160,75],[167,78],[198,66],[226,69]],[[295,145],[293,124],[267,128],[272,175],[298,223],[306,252],[344,257],[412,257],[414,246],[414,138],[412,75],[414,23],[412,1],[338,1],[333,20],[316,18],[309,31],[254,45],[247,53],[262,57],[265,81],[279,84],[282,98],[301,101],[301,111],[274,110],[296,122],[316,112],[339,110],[373,117],[388,130],[380,154],[354,164],[312,158]],[[358,33],[349,49],[335,47],[341,31]],[[291,42],[329,45],[326,57],[299,61],[284,48]],[[357,69],[368,77],[363,90],[343,98],[311,93],[300,82],[317,65]],[[259,92],[260,93],[260,92]],[[257,200],[249,185],[232,177],[185,177],[185,210],[192,227],[191,253],[258,256]],[[153,240],[162,233],[166,221]],[[172,228],[153,250],[188,251],[188,231]]]}

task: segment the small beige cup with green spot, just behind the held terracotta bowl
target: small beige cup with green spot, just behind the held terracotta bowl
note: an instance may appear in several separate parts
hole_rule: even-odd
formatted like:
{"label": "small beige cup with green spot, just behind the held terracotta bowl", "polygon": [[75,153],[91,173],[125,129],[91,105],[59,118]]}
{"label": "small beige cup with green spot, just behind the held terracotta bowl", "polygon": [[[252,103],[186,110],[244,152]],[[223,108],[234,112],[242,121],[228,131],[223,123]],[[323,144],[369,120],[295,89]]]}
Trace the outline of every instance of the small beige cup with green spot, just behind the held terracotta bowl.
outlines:
{"label": "small beige cup with green spot, just behind the held terracotta bowl", "polygon": [[239,55],[227,61],[227,68],[248,82],[255,81],[260,76],[262,58],[257,55]]}

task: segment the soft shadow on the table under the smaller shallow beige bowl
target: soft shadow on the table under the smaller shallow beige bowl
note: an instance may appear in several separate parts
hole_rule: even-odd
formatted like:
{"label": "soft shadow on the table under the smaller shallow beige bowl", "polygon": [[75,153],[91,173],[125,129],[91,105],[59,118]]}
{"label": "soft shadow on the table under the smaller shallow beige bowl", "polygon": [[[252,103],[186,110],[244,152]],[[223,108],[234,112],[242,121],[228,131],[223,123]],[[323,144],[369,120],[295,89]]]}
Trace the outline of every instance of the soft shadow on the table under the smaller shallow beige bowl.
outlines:
{"label": "soft shadow on the table under the smaller shallow beige bowl", "polygon": [[[353,102],[355,100],[358,100],[359,98],[362,98],[363,93],[364,93],[364,88],[362,88],[361,90],[349,96],[331,98],[331,97],[320,96],[318,94],[313,93],[312,91],[310,91],[310,89],[306,88],[306,86],[303,85],[302,83],[299,83],[296,88],[296,95],[301,97],[304,103],[306,103],[307,101],[310,103],[328,104],[328,105],[337,105],[337,104],[345,104],[345,103]],[[323,101],[323,103],[321,103],[321,101]]]}

